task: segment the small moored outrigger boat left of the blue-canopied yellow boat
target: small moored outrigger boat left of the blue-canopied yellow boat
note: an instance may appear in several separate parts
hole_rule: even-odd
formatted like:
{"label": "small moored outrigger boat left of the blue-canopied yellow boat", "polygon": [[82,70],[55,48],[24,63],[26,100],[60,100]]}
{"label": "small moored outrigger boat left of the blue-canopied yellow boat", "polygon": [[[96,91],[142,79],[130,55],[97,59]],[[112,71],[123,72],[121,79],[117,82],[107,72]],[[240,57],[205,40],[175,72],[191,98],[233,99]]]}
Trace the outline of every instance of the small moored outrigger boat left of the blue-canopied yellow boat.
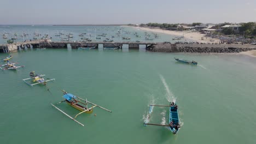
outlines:
{"label": "small moored outrigger boat left of the blue-canopied yellow boat", "polygon": [[[33,83],[28,83],[26,81],[26,80],[30,80],[30,79],[32,79]],[[47,80],[45,80],[45,79],[47,79]],[[43,84],[43,85],[46,85],[46,83],[48,81],[53,81],[53,80],[55,80],[55,79],[50,79],[50,78],[46,77],[45,75],[38,75],[38,74],[34,73],[34,71],[30,72],[30,78],[23,79],[23,81],[25,83],[27,83],[27,85],[29,85],[29,86],[34,86],[34,85],[37,85],[37,84],[40,84],[40,83]],[[34,83],[34,82],[36,82],[36,83]]]}

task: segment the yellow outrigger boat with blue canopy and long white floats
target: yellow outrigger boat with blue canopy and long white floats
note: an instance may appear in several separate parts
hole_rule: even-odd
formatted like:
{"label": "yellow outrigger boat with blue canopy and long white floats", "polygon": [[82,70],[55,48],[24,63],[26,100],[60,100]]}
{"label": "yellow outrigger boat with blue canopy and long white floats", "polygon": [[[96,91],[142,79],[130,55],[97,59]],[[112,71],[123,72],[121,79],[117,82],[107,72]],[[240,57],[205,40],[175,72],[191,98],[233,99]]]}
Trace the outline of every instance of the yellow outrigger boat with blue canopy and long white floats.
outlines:
{"label": "yellow outrigger boat with blue canopy and long white floats", "polygon": [[[108,109],[105,109],[105,108],[102,107],[102,106],[99,106],[99,105],[96,105],[96,104],[94,104],[94,103],[91,103],[91,102],[88,101],[87,99],[79,98],[79,97],[77,97],[77,96],[75,96],[75,95],[73,95],[73,94],[71,94],[71,93],[68,93],[68,92],[66,92],[66,91],[64,91],[64,90],[62,90],[62,92],[63,92],[63,94],[64,94],[62,97],[65,98],[65,100],[62,100],[62,101],[60,101],[60,102],[57,103],[57,104],[60,104],[60,103],[62,103],[62,102],[65,101],[69,106],[72,106],[74,109],[77,109],[77,110],[79,110],[79,111],[81,111],[81,112],[79,112],[79,113],[78,113],[77,115],[75,115],[75,117],[73,118],[73,117],[69,116],[67,113],[65,113],[65,112],[63,112],[62,110],[60,110],[57,106],[55,106],[55,105],[53,105],[53,104],[51,104],[51,105],[53,105],[57,110],[59,110],[59,111],[62,112],[64,115],[68,116],[69,118],[73,119],[75,122],[79,123],[80,125],[83,125],[83,126],[84,126],[84,124],[78,122],[75,118],[77,118],[77,116],[80,115],[80,114],[82,114],[82,113],[91,114],[91,113],[93,112],[93,108],[96,107],[96,106],[97,106],[97,107],[100,107],[101,109],[106,110],[106,111],[108,111],[108,112],[112,112],[112,111],[110,111],[110,110],[108,110]],[[56,105],[57,105],[57,104],[56,104]],[[88,104],[91,104],[92,106],[89,108],[89,107],[88,107]]]}

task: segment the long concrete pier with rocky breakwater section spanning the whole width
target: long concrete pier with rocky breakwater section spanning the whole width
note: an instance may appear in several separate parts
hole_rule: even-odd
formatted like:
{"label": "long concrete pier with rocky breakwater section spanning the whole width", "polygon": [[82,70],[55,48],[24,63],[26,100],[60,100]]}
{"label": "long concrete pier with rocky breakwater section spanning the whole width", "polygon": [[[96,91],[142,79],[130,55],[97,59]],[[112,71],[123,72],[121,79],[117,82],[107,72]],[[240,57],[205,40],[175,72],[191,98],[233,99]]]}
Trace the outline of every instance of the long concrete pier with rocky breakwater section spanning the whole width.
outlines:
{"label": "long concrete pier with rocky breakwater section spanning the whole width", "polygon": [[150,43],[150,42],[89,42],[89,41],[25,41],[14,44],[0,45],[0,52],[16,52],[18,50],[33,48],[50,48],[50,49],[67,49],[70,46],[72,49],[79,47],[95,47],[103,45],[106,48],[122,49],[123,45],[128,45],[129,49],[139,49],[140,45],[146,45],[147,51],[152,52],[203,52],[203,53],[230,53],[255,50],[256,45],[241,45],[241,44],[171,44],[171,43]]}

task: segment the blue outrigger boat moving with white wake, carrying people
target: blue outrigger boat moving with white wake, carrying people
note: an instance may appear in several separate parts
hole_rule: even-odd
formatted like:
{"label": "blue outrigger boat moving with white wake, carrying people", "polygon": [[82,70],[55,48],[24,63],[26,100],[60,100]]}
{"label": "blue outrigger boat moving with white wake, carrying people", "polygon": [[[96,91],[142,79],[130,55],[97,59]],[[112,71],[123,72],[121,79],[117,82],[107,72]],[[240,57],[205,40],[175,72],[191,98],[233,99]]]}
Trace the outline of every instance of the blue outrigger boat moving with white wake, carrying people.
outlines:
{"label": "blue outrigger boat moving with white wake, carrying people", "polygon": [[[170,115],[169,115],[169,124],[154,124],[154,123],[149,123],[149,119],[152,115],[152,111],[153,111],[153,106],[164,106],[164,107],[170,107]],[[176,135],[179,131],[179,129],[181,129],[181,126],[179,125],[179,115],[178,115],[178,106],[176,103],[174,102],[170,102],[170,105],[149,105],[149,114],[148,117],[146,119],[146,121],[144,122],[144,126],[147,125],[157,125],[157,126],[164,126],[164,127],[168,127],[171,131],[172,134]]]}

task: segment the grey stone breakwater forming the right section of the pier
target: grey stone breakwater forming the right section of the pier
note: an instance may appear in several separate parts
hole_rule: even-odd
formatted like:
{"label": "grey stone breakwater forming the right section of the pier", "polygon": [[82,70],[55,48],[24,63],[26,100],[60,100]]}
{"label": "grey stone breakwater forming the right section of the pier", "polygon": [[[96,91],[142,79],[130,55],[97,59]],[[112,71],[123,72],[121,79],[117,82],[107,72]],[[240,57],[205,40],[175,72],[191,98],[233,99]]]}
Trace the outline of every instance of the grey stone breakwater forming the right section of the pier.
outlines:
{"label": "grey stone breakwater forming the right section of the pier", "polygon": [[238,53],[256,50],[256,45],[158,43],[148,47],[147,50],[152,52]]}

